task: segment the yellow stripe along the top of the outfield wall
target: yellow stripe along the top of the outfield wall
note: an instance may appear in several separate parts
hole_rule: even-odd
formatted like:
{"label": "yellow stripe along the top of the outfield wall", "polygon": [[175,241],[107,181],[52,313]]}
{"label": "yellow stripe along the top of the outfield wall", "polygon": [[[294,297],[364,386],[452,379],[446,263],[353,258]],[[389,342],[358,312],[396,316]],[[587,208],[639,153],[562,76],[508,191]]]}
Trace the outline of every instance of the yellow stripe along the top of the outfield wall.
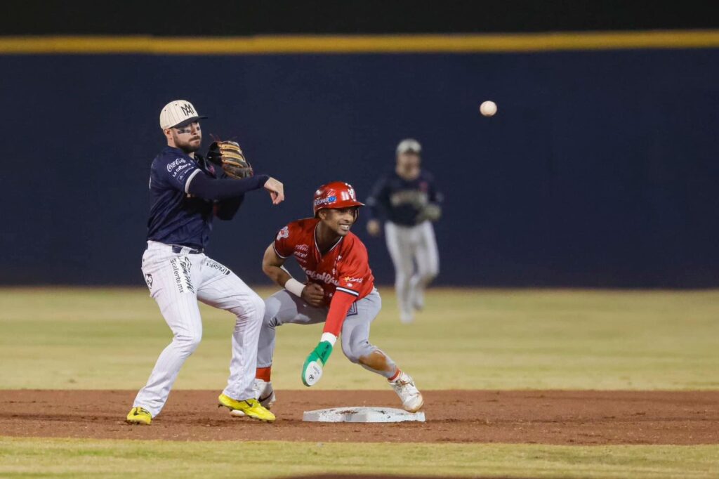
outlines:
{"label": "yellow stripe along the top of the outfield wall", "polygon": [[719,30],[503,35],[257,37],[0,37],[0,54],[265,55],[281,53],[521,53],[719,47]]}

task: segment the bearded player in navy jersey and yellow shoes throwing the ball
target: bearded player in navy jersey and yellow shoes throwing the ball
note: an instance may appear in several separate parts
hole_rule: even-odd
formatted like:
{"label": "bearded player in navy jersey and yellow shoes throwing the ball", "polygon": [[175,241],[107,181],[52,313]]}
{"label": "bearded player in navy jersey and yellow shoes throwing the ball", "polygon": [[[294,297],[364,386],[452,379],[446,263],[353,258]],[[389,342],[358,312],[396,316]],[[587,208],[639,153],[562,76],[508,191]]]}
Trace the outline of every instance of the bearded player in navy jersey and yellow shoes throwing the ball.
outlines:
{"label": "bearded player in navy jersey and yellow shoes throwing the ball", "polygon": [[[244,193],[265,188],[273,204],[284,200],[283,184],[267,175],[227,178],[197,153],[200,116],[185,100],[170,101],[160,113],[168,145],[152,161],[147,250],[142,256],[150,296],[160,306],[173,340],[157,358],[150,379],[134,400],[127,421],[150,424],[165,406],[180,368],[202,338],[197,301],[232,312],[232,360],[219,404],[235,415],[261,421],[275,416],[254,398],[257,340],[265,303],[229,268],[205,255],[214,217],[232,219]],[[239,150],[239,147],[238,149]],[[238,414],[239,413],[239,414]]]}

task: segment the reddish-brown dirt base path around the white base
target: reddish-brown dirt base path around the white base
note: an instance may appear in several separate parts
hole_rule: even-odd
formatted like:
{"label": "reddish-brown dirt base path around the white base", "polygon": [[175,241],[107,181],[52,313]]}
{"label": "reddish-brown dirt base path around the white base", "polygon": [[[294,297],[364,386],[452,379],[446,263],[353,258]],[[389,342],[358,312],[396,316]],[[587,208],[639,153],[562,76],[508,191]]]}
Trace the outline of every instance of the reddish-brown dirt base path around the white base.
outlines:
{"label": "reddish-brown dirt base path around the white base", "polygon": [[400,407],[392,391],[278,391],[278,421],[216,408],[219,391],[173,391],[152,426],[124,417],[135,391],[0,391],[0,435],[313,442],[719,444],[719,391],[426,391],[426,423],[319,424],[303,411]]}

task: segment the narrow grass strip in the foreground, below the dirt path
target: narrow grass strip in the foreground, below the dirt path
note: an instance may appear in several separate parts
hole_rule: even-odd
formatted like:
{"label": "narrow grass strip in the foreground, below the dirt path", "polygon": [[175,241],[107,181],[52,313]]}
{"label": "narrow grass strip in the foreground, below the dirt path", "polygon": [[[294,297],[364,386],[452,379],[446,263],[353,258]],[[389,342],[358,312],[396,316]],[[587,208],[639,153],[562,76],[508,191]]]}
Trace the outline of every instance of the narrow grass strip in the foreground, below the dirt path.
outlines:
{"label": "narrow grass strip in the foreground, below the dirt path", "polygon": [[[351,451],[351,452],[350,452]],[[317,473],[526,478],[715,478],[719,446],[92,442],[0,437],[0,475],[268,478]]]}

